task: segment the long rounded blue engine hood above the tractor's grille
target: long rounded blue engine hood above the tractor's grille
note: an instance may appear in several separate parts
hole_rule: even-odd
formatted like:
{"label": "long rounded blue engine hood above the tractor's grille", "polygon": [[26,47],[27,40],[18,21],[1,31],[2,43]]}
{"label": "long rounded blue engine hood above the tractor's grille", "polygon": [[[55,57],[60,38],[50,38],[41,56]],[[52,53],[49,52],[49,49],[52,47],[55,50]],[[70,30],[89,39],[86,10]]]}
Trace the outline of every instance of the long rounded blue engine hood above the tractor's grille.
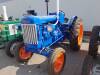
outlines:
{"label": "long rounded blue engine hood above the tractor's grille", "polygon": [[53,23],[57,21],[57,17],[55,15],[50,16],[25,16],[21,19],[22,24],[45,24],[45,23]]}

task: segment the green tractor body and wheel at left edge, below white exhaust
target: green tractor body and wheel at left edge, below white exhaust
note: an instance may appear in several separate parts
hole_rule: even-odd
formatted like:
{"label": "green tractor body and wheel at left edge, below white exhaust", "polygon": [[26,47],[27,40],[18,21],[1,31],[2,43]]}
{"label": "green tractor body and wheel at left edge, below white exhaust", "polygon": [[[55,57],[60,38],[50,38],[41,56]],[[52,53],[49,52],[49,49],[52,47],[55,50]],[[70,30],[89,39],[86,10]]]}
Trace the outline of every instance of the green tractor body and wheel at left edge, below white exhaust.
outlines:
{"label": "green tractor body and wheel at left edge, below white exhaust", "polygon": [[6,54],[14,57],[12,53],[18,41],[22,41],[21,30],[18,29],[19,21],[0,22],[0,48],[5,47]]}

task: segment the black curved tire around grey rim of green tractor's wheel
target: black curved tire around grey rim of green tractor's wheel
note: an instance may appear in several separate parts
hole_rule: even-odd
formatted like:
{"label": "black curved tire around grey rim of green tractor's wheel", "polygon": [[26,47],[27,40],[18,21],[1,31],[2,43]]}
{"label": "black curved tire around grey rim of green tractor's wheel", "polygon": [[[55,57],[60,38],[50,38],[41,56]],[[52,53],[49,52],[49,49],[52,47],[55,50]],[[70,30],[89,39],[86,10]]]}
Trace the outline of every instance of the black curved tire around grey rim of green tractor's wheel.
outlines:
{"label": "black curved tire around grey rim of green tractor's wheel", "polygon": [[9,42],[6,43],[5,50],[6,50],[7,56],[14,57],[14,54],[11,53],[11,50],[10,49],[11,49],[11,46],[13,44],[15,44],[15,43],[17,44],[17,41],[16,40],[9,41]]}

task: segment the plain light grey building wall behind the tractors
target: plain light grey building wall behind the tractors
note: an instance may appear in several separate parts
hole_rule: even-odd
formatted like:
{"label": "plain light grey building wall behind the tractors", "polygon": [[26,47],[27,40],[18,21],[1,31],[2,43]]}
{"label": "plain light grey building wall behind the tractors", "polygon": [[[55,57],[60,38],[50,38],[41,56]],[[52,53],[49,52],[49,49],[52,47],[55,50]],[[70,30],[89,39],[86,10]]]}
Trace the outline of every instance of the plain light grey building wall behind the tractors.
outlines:
{"label": "plain light grey building wall behind the tractors", "polygon": [[[8,16],[21,17],[27,9],[35,9],[38,15],[46,15],[44,0],[12,0],[0,4],[7,6]],[[67,17],[74,15],[83,19],[84,29],[90,31],[93,25],[100,25],[100,0],[60,0],[60,9]],[[50,0],[49,11],[56,10],[56,0]],[[2,13],[2,11],[0,11]]]}

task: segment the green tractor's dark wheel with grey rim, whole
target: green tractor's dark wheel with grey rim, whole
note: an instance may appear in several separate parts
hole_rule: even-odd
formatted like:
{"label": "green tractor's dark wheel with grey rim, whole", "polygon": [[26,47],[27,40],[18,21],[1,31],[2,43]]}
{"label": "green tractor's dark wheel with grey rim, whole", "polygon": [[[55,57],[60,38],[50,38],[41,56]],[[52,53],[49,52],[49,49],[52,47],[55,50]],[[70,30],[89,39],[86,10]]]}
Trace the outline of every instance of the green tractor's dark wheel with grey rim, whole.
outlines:
{"label": "green tractor's dark wheel with grey rim, whole", "polygon": [[16,48],[18,42],[16,40],[10,41],[6,43],[6,54],[9,57],[14,57],[14,49]]}

